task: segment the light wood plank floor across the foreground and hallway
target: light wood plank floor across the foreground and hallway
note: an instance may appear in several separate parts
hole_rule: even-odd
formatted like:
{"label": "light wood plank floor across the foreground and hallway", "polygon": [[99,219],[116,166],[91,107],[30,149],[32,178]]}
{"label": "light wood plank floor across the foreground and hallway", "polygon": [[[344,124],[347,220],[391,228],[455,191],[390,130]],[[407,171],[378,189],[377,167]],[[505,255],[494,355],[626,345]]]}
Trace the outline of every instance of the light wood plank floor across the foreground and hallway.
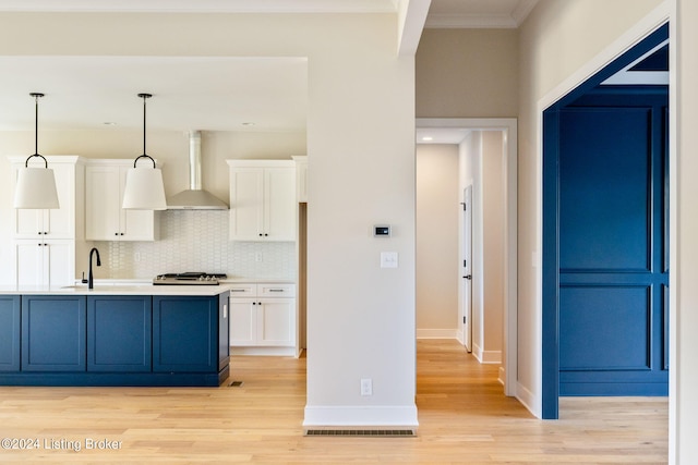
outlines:
{"label": "light wood plank floor across the foreground and hallway", "polygon": [[[496,366],[479,365],[455,341],[418,342],[416,438],[303,437],[305,359],[233,357],[232,366],[242,387],[0,388],[0,439],[40,443],[0,449],[0,463],[667,461],[665,399],[564,399],[559,420],[538,420],[503,395]],[[120,449],[85,450],[87,438]]]}

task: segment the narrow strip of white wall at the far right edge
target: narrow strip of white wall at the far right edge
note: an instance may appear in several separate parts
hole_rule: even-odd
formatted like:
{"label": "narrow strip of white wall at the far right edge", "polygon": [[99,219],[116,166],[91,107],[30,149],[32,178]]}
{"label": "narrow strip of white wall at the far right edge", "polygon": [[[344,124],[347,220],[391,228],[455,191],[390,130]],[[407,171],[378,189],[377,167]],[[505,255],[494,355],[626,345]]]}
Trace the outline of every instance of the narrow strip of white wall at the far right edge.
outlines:
{"label": "narrow strip of white wall at the far right edge", "polygon": [[[672,321],[672,381],[670,412],[670,460],[676,464],[698,463],[698,358],[696,334],[698,333],[698,212],[695,199],[698,197],[698,57],[695,45],[698,44],[698,2],[678,0],[677,14],[673,17],[672,48],[677,50],[678,63],[672,62],[676,70],[676,94],[672,95],[672,105],[676,109],[677,124],[672,137],[676,142],[677,159],[674,167],[676,183],[672,189],[676,207],[674,216],[677,228],[676,247],[672,260],[677,271],[672,281],[675,291],[677,313]],[[676,33],[674,35],[674,33]],[[678,105],[677,100],[678,100]]]}

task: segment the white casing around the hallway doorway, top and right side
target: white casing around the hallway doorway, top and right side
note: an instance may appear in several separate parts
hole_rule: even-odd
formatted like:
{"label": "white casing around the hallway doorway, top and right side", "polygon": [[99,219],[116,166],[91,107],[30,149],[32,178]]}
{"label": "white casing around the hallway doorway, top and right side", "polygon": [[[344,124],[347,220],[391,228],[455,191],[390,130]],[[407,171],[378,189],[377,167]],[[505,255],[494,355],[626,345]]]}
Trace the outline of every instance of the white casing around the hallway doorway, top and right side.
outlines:
{"label": "white casing around the hallway doorway, top and right side", "polygon": [[504,142],[504,393],[517,396],[518,347],[518,124],[516,118],[418,118],[417,129],[502,131]]}

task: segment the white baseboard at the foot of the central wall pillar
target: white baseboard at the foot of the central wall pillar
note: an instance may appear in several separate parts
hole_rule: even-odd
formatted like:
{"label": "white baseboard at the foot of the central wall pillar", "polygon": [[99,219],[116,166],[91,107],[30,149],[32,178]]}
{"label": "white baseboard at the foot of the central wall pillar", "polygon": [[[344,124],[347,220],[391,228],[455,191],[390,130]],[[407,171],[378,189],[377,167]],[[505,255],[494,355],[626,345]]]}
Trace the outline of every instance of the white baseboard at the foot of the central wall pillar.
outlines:
{"label": "white baseboard at the foot of the central wall pillar", "polygon": [[404,427],[416,428],[417,405],[305,406],[303,427]]}

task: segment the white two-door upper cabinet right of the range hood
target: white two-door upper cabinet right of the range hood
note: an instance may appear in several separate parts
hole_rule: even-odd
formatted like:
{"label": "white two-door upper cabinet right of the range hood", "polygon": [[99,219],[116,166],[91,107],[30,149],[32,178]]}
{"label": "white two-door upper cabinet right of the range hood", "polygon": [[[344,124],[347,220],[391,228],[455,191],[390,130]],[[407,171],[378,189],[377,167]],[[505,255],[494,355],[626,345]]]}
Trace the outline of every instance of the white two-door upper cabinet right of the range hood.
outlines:
{"label": "white two-door upper cabinet right of the range hood", "polygon": [[296,241],[296,164],[228,160],[230,240]]}

